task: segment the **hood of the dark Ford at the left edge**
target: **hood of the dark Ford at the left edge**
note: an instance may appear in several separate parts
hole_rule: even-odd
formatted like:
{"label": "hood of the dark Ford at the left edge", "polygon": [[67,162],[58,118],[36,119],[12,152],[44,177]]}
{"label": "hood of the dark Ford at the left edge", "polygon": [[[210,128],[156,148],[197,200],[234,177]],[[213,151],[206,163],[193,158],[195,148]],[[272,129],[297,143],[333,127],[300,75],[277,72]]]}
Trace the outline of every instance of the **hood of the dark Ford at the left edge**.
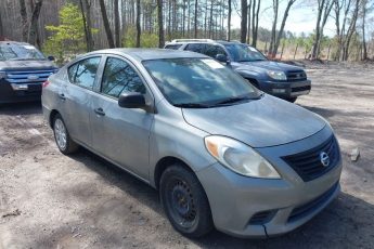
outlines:
{"label": "hood of the dark Ford at the left edge", "polygon": [[52,69],[55,64],[50,61],[0,61],[0,70]]}

